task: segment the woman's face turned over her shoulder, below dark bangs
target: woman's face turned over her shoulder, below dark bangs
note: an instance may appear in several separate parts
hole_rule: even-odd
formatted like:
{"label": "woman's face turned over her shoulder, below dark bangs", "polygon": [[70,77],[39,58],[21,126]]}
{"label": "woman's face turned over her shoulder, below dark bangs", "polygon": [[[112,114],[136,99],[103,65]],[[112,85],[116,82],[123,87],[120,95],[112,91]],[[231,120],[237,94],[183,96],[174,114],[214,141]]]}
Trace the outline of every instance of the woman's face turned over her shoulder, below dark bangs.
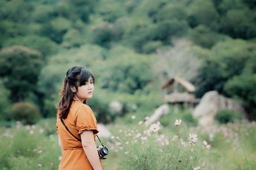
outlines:
{"label": "woman's face turned over her shoulder, below dark bangs", "polygon": [[79,86],[77,88],[76,96],[81,100],[84,101],[86,99],[92,99],[93,96],[93,79],[90,77],[85,85]]}

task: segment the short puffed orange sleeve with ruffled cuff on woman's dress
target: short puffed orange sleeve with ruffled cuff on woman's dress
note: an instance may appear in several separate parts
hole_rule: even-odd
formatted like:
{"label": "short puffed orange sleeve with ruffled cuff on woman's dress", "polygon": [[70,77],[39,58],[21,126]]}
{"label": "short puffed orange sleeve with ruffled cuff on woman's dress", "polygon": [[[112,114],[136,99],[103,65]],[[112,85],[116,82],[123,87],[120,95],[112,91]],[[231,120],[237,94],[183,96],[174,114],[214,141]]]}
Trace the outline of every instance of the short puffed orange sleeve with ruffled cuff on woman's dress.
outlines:
{"label": "short puffed orange sleeve with ruffled cuff on woman's dress", "polygon": [[83,131],[93,131],[93,134],[99,132],[97,129],[97,120],[89,106],[83,104],[77,111],[76,127],[78,129],[77,134],[81,134]]}

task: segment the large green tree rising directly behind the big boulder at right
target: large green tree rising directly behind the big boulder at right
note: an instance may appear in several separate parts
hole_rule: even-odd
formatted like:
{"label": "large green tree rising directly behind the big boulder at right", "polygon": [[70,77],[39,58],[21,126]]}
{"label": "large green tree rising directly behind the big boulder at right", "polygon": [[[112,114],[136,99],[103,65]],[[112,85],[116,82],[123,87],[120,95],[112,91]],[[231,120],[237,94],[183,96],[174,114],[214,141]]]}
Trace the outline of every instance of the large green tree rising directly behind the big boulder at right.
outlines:
{"label": "large green tree rising directly behind the big boulder at right", "polygon": [[243,73],[246,62],[255,57],[253,46],[243,40],[228,40],[214,45],[211,55],[200,68],[201,82],[197,96],[202,96],[209,90],[218,90],[221,94],[228,95],[223,90],[225,83]]}

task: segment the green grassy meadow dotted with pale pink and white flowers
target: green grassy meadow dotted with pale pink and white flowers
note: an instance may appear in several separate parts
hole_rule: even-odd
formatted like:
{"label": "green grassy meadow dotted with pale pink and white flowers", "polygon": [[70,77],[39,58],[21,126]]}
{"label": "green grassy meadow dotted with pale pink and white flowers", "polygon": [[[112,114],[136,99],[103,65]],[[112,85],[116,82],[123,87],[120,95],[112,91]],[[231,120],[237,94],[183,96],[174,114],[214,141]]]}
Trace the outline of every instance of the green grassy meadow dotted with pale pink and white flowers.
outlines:
{"label": "green grassy meadow dotted with pale pink and white flowers", "polygon": [[[216,126],[211,132],[167,115],[170,124],[159,125],[157,132],[138,124],[141,117],[132,115],[107,127],[113,136],[102,139],[109,148],[105,169],[253,169],[256,167],[256,123],[234,122]],[[127,123],[125,123],[127,122]],[[197,134],[190,144],[189,134]],[[0,127],[0,169],[58,169],[61,156],[55,119],[45,119],[33,126],[19,123]],[[173,138],[177,135],[178,138]],[[203,141],[211,145],[205,148]]]}

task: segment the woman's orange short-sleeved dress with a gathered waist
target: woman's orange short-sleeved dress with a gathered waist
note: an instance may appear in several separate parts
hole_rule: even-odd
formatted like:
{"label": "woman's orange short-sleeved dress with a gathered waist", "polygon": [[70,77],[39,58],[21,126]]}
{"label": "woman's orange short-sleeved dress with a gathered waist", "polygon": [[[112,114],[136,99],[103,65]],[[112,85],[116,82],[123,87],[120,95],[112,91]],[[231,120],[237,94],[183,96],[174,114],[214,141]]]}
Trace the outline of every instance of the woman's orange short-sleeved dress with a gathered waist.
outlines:
{"label": "woman's orange short-sleeved dress with a gathered waist", "polygon": [[[63,121],[69,131],[79,139],[81,139],[80,134],[83,131],[93,131],[94,141],[96,142],[96,135],[99,132],[97,129],[97,120],[88,105],[79,101],[73,101],[68,116]],[[59,170],[93,170],[92,165],[84,153],[81,142],[77,141],[77,139],[65,129],[65,126],[61,123],[58,116],[56,127],[63,146]],[[102,166],[101,160],[100,164]]]}

